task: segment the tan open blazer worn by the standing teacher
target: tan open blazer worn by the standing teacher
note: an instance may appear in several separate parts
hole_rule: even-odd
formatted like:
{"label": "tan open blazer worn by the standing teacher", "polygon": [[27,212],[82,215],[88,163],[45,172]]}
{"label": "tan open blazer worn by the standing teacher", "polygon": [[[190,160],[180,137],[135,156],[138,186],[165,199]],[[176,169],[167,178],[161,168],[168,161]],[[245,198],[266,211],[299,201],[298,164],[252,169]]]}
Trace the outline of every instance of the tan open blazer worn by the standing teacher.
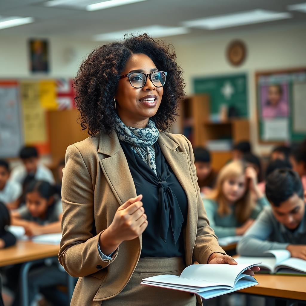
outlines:
{"label": "tan open blazer worn by the standing teacher", "polygon": [[[180,134],[160,132],[159,146],[188,199],[184,228],[186,264],[207,263],[222,252],[203,207],[197,184],[192,146]],[[79,277],[71,305],[101,305],[127,284],[140,258],[142,237],[124,241],[113,259],[99,256],[99,236],[113,221],[116,210],[136,197],[132,175],[117,134],[100,133],[70,145],[62,182],[62,241],[58,259]],[[103,304],[103,303],[102,303]]]}

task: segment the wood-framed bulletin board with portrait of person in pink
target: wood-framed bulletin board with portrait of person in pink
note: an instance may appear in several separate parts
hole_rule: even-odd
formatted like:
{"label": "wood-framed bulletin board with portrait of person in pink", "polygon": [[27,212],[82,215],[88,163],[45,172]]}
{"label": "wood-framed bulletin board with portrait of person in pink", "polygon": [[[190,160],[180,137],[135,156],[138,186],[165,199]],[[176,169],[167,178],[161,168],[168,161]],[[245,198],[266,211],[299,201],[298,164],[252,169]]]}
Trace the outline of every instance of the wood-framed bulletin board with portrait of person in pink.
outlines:
{"label": "wood-framed bulletin board with portrait of person in pink", "polygon": [[306,137],[306,68],[257,72],[256,94],[261,143]]}

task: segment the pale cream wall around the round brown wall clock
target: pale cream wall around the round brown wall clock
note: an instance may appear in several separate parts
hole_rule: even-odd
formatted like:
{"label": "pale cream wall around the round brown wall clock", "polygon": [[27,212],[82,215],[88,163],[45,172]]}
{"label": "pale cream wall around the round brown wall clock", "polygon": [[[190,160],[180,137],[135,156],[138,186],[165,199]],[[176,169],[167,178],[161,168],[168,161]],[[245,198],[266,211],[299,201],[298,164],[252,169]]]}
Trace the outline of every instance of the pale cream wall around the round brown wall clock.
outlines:
{"label": "pale cream wall around the round brown wall clock", "polygon": [[[255,72],[263,70],[306,67],[306,25],[239,30],[215,34],[203,39],[173,40],[177,59],[184,68],[186,93],[193,93],[195,76],[248,73],[249,114],[251,141],[257,153],[268,154],[271,145],[258,143],[256,123]],[[226,48],[231,40],[241,39],[246,44],[246,61],[239,68],[226,60]],[[305,100],[306,103],[306,100]]]}

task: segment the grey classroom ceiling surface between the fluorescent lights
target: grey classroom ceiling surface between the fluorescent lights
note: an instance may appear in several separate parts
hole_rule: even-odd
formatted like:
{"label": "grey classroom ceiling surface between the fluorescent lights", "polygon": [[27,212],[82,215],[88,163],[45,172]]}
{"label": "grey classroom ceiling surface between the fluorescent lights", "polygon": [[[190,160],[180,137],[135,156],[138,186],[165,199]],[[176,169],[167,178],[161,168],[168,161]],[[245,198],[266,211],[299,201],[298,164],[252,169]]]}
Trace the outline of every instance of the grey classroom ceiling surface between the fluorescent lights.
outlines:
{"label": "grey classroom ceiling surface between the fluorescent lights", "polygon": [[[92,39],[93,35],[149,25],[181,26],[183,21],[237,13],[252,9],[288,12],[287,6],[301,0],[148,0],[98,11],[45,7],[43,0],[0,0],[3,17],[34,17],[35,22],[0,30],[0,35],[69,35]],[[96,2],[99,2],[97,0]],[[305,23],[306,13],[291,11],[285,20],[250,24],[220,30],[191,29],[186,35],[211,35],[233,29],[272,28]]]}

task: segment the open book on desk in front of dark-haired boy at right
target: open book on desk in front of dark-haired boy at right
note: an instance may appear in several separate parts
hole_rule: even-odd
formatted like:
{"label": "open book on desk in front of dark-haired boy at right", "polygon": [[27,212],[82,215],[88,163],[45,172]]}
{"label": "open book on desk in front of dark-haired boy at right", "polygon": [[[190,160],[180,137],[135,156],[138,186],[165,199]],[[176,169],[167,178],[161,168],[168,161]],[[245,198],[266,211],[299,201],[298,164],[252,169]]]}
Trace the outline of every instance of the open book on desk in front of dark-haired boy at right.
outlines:
{"label": "open book on desk in front of dark-haired boy at right", "polygon": [[306,274],[306,260],[293,258],[288,250],[270,250],[270,257],[235,257],[237,263],[262,262],[260,271],[277,274]]}

